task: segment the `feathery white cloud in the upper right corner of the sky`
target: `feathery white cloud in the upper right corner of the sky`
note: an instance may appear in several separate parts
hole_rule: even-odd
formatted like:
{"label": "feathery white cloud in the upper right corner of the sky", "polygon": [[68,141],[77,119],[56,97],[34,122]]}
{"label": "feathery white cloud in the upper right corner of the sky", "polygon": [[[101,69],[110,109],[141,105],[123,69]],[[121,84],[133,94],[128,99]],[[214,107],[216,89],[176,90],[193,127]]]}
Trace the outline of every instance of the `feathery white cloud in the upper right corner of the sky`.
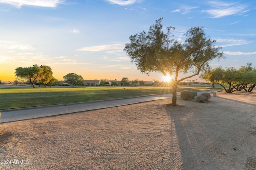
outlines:
{"label": "feathery white cloud in the upper right corner of the sky", "polygon": [[202,10],[201,12],[208,13],[211,18],[220,18],[230,15],[242,15],[249,10],[246,10],[247,6],[238,3],[225,3],[220,1],[210,1],[208,4],[212,5],[214,9]]}

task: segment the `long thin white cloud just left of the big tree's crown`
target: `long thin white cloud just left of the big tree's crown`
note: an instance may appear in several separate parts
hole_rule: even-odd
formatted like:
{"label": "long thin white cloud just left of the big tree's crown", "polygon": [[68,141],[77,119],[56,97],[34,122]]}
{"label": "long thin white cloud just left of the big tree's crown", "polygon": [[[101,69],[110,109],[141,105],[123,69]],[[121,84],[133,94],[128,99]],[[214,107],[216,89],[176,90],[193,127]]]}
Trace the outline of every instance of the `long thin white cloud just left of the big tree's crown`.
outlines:
{"label": "long thin white cloud just left of the big tree's crown", "polygon": [[112,50],[112,49],[124,49],[124,45],[122,44],[112,44],[112,45],[98,45],[92,47],[83,47],[77,49],[76,51],[105,51],[105,50]]}

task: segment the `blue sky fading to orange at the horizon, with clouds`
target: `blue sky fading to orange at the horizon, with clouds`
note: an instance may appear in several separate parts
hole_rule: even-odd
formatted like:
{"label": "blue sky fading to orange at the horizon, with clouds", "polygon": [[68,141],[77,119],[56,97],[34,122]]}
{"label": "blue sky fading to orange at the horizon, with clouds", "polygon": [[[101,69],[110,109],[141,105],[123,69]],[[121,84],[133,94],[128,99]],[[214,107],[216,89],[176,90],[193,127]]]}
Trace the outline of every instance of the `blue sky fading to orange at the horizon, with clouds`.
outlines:
{"label": "blue sky fading to orange at the horizon, with clouds", "polygon": [[58,80],[74,72],[84,80],[162,81],[161,73],[142,74],[123,51],[130,35],[159,18],[181,42],[191,27],[204,27],[226,57],[212,68],[256,66],[255,16],[255,0],[0,0],[0,80],[37,64]]}

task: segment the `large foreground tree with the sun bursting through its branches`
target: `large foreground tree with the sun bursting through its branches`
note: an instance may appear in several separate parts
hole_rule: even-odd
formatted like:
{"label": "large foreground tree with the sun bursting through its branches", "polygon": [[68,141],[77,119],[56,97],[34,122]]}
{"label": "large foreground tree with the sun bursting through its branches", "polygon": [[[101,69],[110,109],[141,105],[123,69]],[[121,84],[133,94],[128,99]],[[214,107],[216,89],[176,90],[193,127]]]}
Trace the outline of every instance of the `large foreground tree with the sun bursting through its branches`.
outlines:
{"label": "large foreground tree with the sun bursting through its branches", "polygon": [[[184,34],[186,40],[179,42],[170,38],[174,27],[166,27],[164,32],[161,21],[162,18],[156,20],[148,33],[142,31],[131,35],[130,43],[125,45],[124,51],[143,73],[161,72],[164,76],[174,75],[171,81],[172,106],[176,106],[178,83],[207,69],[213,59],[220,60],[224,57],[220,52],[221,47],[214,47],[216,41],[206,37],[202,27],[191,27]],[[178,79],[181,72],[186,76]]]}

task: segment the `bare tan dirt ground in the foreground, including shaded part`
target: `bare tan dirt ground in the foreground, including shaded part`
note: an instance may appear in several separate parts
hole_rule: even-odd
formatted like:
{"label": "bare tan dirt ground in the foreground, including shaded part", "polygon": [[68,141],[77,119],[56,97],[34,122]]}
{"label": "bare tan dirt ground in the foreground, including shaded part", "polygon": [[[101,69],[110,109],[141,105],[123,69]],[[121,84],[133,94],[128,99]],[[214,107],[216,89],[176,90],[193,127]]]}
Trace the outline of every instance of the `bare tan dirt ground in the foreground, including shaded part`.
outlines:
{"label": "bare tan dirt ground in the foreground, including shaded part", "polygon": [[256,93],[0,124],[0,169],[256,170]]}

